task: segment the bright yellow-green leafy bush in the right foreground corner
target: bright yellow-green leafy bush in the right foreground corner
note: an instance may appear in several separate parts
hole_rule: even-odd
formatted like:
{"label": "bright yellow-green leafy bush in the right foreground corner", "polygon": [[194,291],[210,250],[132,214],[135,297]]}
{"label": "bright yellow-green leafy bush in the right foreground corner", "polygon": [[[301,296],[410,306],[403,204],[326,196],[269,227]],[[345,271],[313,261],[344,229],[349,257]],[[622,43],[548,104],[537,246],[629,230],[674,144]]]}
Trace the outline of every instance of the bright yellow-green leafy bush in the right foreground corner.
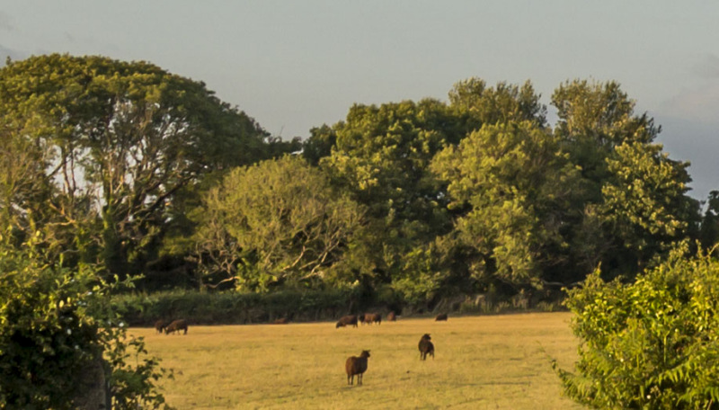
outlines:
{"label": "bright yellow-green leafy bush in the right foreground corner", "polygon": [[599,271],[570,290],[576,373],[564,391],[595,408],[715,408],[719,399],[719,262],[687,246],[634,283]]}

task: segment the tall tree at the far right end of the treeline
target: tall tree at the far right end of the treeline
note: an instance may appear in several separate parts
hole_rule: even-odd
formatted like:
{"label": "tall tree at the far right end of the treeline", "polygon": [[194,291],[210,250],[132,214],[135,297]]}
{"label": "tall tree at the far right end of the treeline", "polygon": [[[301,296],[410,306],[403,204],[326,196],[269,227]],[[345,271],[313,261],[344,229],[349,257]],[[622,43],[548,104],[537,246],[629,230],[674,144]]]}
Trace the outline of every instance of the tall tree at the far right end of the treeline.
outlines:
{"label": "tall tree at the far right end of the treeline", "polygon": [[686,195],[688,164],[670,160],[653,140],[661,127],[616,82],[574,80],[552,95],[554,129],[581,169],[581,195],[567,220],[567,254],[580,281],[602,263],[608,275],[640,272],[673,241],[693,236],[697,203]]}

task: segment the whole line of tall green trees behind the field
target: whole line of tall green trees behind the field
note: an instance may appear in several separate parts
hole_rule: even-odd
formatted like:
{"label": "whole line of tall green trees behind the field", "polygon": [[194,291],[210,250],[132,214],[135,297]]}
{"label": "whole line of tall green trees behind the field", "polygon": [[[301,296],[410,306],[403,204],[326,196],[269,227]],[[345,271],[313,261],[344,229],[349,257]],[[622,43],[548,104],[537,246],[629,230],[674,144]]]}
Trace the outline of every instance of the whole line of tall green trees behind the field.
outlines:
{"label": "whole line of tall green trees behind the field", "polygon": [[[719,237],[719,193],[614,82],[471,78],[448,101],[352,106],[273,138],[203,83],[144,62],[50,55],[0,69],[2,242],[147,291],[461,293],[632,278]],[[698,251],[698,249],[694,249]]]}

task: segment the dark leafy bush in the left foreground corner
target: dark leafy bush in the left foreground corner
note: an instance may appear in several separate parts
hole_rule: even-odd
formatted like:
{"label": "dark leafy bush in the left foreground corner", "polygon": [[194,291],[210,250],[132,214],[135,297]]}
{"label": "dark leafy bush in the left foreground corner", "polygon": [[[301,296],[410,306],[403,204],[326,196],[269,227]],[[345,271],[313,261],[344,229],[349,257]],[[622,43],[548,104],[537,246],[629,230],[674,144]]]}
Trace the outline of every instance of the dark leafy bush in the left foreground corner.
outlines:
{"label": "dark leafy bush in the left foreground corner", "polygon": [[164,370],[104,305],[113,286],[89,266],[46,263],[37,249],[0,251],[0,407],[75,408],[88,393],[84,373],[103,355],[116,408],[162,406],[155,381]]}

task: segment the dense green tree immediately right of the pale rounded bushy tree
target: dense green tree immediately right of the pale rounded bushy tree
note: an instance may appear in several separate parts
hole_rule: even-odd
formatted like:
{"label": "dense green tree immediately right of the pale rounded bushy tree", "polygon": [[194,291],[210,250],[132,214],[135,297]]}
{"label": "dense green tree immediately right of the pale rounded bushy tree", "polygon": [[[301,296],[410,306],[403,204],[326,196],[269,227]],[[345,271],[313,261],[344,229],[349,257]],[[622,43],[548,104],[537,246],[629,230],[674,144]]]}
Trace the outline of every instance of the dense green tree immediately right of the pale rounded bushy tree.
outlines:
{"label": "dense green tree immediately right of the pale rounded bushy tree", "polygon": [[453,123],[445,104],[423,100],[354,105],[334,126],[332,155],[320,165],[368,209],[368,235],[358,238],[357,253],[368,259],[358,260],[355,269],[391,281],[405,253],[449,227],[428,165]]}

